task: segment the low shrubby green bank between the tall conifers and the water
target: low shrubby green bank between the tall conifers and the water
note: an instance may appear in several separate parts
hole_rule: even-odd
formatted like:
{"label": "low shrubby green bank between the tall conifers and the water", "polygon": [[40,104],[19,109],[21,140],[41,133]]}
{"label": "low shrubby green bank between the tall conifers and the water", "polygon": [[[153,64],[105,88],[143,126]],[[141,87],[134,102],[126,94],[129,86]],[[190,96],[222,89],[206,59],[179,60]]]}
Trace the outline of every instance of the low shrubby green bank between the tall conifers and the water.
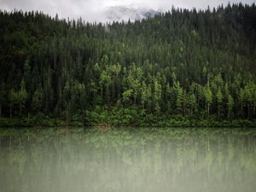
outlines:
{"label": "low shrubby green bank between the tall conifers and the water", "polygon": [[255,119],[196,119],[189,116],[167,116],[156,114],[123,115],[118,117],[113,113],[90,113],[86,118],[72,118],[69,120],[49,116],[31,118],[1,118],[0,127],[58,127],[58,126],[137,126],[137,127],[256,127]]}

